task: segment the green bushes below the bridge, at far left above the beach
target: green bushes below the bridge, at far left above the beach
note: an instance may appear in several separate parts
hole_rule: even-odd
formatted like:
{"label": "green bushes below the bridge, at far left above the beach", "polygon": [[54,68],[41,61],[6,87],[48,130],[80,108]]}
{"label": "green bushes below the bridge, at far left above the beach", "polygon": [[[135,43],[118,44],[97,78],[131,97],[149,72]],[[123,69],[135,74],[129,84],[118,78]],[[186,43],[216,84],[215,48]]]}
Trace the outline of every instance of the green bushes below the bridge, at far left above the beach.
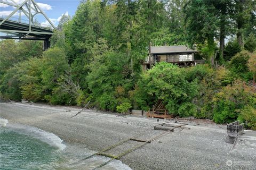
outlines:
{"label": "green bushes below the bridge, at far left above the beach", "polygon": [[65,54],[59,48],[51,48],[43,53],[42,58],[30,58],[7,70],[1,92],[5,98],[20,100],[22,95],[23,99],[54,100],[52,103],[57,104],[58,94],[51,99],[52,91],[57,88],[58,78],[65,70],[68,70]]}

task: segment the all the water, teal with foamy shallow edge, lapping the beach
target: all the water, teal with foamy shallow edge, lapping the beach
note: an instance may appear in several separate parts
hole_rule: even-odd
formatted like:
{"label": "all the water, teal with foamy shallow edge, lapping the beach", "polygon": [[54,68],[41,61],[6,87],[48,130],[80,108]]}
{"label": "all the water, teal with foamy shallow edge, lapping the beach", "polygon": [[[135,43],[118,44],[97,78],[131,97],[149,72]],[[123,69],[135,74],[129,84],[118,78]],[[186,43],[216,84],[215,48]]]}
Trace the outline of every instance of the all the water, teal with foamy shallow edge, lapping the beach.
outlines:
{"label": "all the water, teal with foamy shallow edge, lapping the beach", "polygon": [[[53,133],[41,129],[10,124],[0,118],[0,169],[92,169],[109,158],[95,156],[79,161],[94,153],[81,146],[66,146]],[[129,169],[114,160],[100,169]]]}

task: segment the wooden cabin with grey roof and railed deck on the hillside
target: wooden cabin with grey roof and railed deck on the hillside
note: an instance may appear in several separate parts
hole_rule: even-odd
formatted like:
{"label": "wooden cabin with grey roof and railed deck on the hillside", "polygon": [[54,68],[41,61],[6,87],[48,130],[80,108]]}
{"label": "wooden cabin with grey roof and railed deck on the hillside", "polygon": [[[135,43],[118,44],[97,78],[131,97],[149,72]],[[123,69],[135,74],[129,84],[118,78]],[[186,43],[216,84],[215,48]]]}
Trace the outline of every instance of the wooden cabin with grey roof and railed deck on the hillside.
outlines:
{"label": "wooden cabin with grey roof and railed deck on the hillside", "polygon": [[179,66],[196,65],[194,54],[196,50],[186,46],[150,46],[149,56],[143,62],[143,70],[150,69],[158,62],[176,63]]}

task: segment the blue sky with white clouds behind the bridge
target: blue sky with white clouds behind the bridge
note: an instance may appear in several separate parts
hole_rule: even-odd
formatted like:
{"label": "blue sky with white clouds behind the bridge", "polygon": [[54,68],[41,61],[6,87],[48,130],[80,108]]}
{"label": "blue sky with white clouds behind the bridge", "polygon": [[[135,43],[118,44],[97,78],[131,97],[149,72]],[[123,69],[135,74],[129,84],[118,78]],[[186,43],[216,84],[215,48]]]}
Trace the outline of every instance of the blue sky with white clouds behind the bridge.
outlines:
{"label": "blue sky with white clouds behind the bridge", "polygon": [[[1,0],[4,2],[11,2],[12,0]],[[25,0],[13,0],[17,4],[21,4]],[[70,16],[73,16],[76,12],[77,6],[79,5],[79,0],[35,0],[35,2],[41,7],[41,9],[44,11],[44,13],[48,16],[48,18],[51,20],[51,22],[57,26],[59,23],[59,20],[62,15],[69,14]],[[0,3],[0,17],[6,18],[15,7],[9,6],[3,3]],[[18,20],[19,13],[15,13],[13,18],[11,20]],[[24,14],[22,14],[22,19],[28,20]],[[41,23],[42,25],[49,25],[49,22],[46,21],[43,15],[37,14],[35,15],[35,19]]]}

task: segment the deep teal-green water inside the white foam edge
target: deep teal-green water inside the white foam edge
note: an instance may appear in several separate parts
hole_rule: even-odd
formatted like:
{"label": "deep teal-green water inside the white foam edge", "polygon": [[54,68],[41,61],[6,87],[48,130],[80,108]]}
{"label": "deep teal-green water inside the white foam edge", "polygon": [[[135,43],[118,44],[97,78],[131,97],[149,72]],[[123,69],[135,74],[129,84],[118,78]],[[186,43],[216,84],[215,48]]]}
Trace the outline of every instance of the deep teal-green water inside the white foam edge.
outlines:
{"label": "deep teal-green water inside the white foam edge", "polygon": [[1,128],[1,169],[54,169],[57,147],[10,128]]}

